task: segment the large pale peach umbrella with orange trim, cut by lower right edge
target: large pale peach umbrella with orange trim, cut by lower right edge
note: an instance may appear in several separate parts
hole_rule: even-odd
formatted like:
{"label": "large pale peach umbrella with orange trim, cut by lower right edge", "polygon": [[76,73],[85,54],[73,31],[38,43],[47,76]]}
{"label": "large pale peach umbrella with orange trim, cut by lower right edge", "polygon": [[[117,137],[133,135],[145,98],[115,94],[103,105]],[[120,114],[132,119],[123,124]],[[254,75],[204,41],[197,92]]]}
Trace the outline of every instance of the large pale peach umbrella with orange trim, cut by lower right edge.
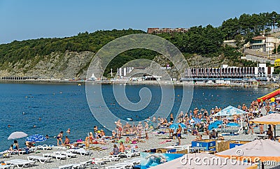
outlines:
{"label": "large pale peach umbrella with orange trim, cut by lower right edge", "polygon": [[227,158],[238,159],[239,161],[251,160],[280,161],[280,142],[272,140],[253,140],[244,145],[234,147],[216,154]]}

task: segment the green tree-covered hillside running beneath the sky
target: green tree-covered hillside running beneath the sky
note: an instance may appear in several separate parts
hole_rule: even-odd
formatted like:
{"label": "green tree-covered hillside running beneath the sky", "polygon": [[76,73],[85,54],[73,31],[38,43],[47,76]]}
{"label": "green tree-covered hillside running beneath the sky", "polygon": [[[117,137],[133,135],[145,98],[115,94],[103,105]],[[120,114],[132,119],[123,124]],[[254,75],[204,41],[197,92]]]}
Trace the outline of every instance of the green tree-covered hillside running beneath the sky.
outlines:
{"label": "green tree-covered hillside running beneath the sky", "polygon": [[[223,41],[244,38],[244,43],[246,43],[251,41],[253,36],[267,33],[270,29],[279,26],[280,15],[276,12],[252,15],[242,14],[238,18],[223,21],[220,27],[213,27],[209,24],[207,27],[191,27],[185,34],[158,34],[158,36],[174,43],[188,59],[193,54],[200,54],[202,57],[221,56],[221,59],[230,60],[232,66],[253,66],[254,64],[251,61],[240,59],[242,54],[238,52],[238,49],[223,46]],[[133,29],[113,29],[111,31],[79,33],[77,36],[66,38],[39,38],[1,44],[0,69],[3,70],[6,65],[14,65],[19,62],[24,67],[34,58],[36,58],[35,62],[38,62],[45,56],[54,53],[64,54],[65,52],[84,51],[96,53],[106,43],[128,34],[146,34],[146,32]],[[241,47],[242,44],[239,44],[238,47]],[[153,59],[156,55],[158,55],[157,52],[143,49],[123,52],[111,61],[105,73],[109,73],[109,68],[113,68],[115,71],[116,68],[123,66],[127,61],[140,58]]]}

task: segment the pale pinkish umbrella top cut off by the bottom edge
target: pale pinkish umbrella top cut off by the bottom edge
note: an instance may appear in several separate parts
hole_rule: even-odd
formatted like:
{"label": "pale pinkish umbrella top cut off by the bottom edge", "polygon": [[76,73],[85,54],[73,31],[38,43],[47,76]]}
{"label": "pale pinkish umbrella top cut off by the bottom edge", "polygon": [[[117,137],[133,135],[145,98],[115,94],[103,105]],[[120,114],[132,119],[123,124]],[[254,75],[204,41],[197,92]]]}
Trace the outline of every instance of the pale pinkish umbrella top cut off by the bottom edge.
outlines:
{"label": "pale pinkish umbrella top cut off by the bottom edge", "polygon": [[258,165],[252,163],[226,163],[228,159],[218,157],[208,153],[193,153],[184,154],[181,158],[167,161],[158,166],[151,167],[153,169],[162,168],[187,168],[187,169],[216,169],[216,168],[231,168],[231,169],[253,169],[258,168]]}

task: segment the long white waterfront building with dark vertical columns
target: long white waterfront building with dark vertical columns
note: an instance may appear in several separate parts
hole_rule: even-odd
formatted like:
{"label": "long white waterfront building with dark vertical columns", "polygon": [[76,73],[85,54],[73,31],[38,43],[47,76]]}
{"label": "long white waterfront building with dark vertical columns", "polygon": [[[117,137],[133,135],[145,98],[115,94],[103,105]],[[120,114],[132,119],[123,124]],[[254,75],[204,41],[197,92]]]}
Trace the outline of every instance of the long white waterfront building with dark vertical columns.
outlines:
{"label": "long white waterfront building with dark vertical columns", "polygon": [[258,64],[258,67],[235,67],[223,65],[221,68],[186,68],[183,80],[268,80],[273,67]]}

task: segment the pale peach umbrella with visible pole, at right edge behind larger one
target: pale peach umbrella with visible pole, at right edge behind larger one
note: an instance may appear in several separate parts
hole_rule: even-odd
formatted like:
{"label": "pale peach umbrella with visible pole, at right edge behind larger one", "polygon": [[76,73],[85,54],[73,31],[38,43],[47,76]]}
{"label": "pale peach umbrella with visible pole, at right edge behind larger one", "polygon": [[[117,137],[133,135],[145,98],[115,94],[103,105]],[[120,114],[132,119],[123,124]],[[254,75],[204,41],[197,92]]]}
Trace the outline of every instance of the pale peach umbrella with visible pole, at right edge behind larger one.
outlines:
{"label": "pale peach umbrella with visible pole, at right edge behind larger one", "polygon": [[[251,120],[254,123],[258,124],[280,124],[280,114],[278,113],[271,113],[266,116],[262,116],[256,119]],[[274,126],[274,136],[276,135],[276,127]]]}

